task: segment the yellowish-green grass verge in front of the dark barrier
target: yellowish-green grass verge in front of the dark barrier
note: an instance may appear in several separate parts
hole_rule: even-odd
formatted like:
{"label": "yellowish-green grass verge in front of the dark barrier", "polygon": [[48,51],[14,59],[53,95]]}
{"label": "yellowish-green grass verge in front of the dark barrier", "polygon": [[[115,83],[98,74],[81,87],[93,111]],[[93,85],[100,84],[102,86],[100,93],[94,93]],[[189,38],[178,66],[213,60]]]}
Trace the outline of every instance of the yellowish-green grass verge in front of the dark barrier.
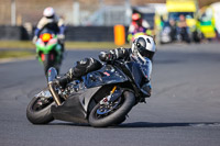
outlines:
{"label": "yellowish-green grass verge in front of the dark barrier", "polygon": [[[65,47],[66,49],[113,49],[121,46],[117,46],[113,42],[66,42]],[[122,47],[129,47],[129,44]],[[34,49],[35,45],[31,41],[0,41],[0,59],[34,56],[35,52],[31,52]]]}

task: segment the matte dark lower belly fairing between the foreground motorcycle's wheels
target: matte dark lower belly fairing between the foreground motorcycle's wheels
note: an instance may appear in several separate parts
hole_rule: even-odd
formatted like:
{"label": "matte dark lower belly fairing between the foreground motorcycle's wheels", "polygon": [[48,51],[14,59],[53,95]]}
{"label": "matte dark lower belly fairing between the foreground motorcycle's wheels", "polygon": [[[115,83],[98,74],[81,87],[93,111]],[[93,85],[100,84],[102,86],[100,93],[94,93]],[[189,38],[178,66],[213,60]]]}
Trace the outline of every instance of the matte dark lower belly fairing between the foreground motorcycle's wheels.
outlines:
{"label": "matte dark lower belly fairing between the foreground motorcycle's wheels", "polygon": [[53,105],[51,110],[54,119],[74,123],[88,123],[87,112],[89,105],[95,104],[92,97],[100,88],[96,87],[81,90],[69,96],[62,105]]}

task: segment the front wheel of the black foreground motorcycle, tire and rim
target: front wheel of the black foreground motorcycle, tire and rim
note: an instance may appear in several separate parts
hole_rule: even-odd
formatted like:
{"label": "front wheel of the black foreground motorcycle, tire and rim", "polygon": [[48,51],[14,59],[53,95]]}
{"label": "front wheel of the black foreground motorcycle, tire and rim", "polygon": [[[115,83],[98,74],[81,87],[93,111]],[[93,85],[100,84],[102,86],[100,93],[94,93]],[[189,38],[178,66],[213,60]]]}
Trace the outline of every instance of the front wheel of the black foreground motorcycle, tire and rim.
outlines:
{"label": "front wheel of the black foreground motorcycle, tire and rim", "polygon": [[135,103],[134,94],[130,91],[124,91],[110,105],[101,105],[98,103],[89,114],[89,124],[95,127],[107,127],[117,125],[125,120]]}

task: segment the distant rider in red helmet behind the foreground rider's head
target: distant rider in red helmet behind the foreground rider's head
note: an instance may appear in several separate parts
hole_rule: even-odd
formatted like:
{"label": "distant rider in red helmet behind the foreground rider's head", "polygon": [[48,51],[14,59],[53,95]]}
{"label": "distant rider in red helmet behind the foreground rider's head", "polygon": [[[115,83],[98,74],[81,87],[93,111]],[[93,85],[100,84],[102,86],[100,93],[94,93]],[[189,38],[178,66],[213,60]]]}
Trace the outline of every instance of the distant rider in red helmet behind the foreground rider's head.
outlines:
{"label": "distant rider in red helmet behind the foreground rider's head", "polygon": [[[140,13],[133,13],[132,14],[132,22],[129,26],[129,35],[128,41],[133,41],[132,37],[135,35],[135,33],[145,33],[148,34],[150,24],[147,21],[143,20]],[[148,34],[150,35],[150,34]]]}

